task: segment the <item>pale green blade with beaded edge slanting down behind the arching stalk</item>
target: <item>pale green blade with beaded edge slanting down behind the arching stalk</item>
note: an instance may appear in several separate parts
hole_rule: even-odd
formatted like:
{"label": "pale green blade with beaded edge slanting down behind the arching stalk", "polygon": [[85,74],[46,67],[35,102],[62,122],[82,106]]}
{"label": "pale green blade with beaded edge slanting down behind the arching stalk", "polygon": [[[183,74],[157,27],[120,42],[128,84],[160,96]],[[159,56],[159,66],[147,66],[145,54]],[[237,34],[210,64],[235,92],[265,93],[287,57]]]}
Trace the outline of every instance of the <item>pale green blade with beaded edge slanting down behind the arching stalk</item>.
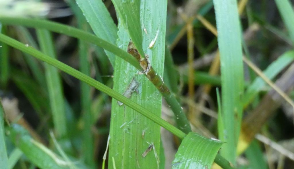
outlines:
{"label": "pale green blade with beaded edge slanting down behind the arching stalk", "polygon": [[[101,0],[76,0],[96,36],[115,45],[117,39],[117,27],[114,24],[108,10]],[[110,63],[114,67],[115,56],[105,51]]]}

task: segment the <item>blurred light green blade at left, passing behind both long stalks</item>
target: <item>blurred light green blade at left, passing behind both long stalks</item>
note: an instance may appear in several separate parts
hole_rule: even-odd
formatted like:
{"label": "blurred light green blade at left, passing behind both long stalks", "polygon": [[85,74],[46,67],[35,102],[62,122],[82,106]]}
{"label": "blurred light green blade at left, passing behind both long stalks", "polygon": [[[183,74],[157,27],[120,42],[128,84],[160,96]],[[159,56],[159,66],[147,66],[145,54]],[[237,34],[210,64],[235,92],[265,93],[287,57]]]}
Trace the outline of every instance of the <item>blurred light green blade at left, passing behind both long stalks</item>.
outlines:
{"label": "blurred light green blade at left, passing behind both long stalks", "polygon": [[[47,55],[56,58],[53,39],[50,32],[44,29],[39,29],[37,30],[37,35],[41,50]],[[47,63],[45,63],[45,75],[54,128],[57,132],[58,137],[62,137],[66,135],[67,129],[61,79],[57,69]]]}

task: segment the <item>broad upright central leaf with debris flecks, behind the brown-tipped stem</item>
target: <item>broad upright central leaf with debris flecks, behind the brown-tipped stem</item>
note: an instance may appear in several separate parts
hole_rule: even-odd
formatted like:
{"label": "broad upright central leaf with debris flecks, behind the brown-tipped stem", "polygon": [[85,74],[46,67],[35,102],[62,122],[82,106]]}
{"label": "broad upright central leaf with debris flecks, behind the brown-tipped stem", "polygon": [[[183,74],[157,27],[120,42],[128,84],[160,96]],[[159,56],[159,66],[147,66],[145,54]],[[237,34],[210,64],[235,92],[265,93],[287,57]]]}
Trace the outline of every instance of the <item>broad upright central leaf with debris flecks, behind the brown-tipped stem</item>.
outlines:
{"label": "broad upright central leaf with debris flecks, behind the brown-tipped stem", "polygon": [[[162,77],[166,32],[166,26],[163,23],[166,19],[167,4],[166,1],[162,1],[158,8],[157,3],[159,2],[142,1],[141,23],[144,23],[147,31],[147,34],[143,33],[144,53],[149,56],[151,65]],[[117,45],[127,50],[130,37],[126,27],[122,25],[123,20],[119,18],[119,21]],[[150,49],[148,46],[156,34],[158,36],[156,44]],[[144,75],[138,75],[138,70],[121,58],[116,58],[114,70],[113,89],[123,94],[135,80],[139,84],[138,93],[133,92],[130,99],[160,117],[162,97],[155,86]],[[153,124],[131,108],[125,105],[120,106],[117,100],[112,100],[109,158],[114,158],[117,168],[128,168],[133,165],[135,168],[144,168],[144,166],[159,168],[160,127]],[[148,148],[151,150],[148,151]],[[109,161],[108,165],[113,168],[112,161]]]}

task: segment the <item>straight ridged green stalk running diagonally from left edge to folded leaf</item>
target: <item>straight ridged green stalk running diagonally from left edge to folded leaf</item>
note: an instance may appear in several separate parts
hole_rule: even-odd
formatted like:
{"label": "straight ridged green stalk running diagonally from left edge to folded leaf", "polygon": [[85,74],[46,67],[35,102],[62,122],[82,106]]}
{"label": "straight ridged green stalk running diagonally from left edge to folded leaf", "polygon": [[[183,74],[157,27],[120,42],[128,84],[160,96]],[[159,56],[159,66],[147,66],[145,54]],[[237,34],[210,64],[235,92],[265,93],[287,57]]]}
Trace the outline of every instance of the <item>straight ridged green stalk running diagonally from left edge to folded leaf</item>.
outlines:
{"label": "straight ridged green stalk running diagonally from left edge to folded leaf", "polygon": [[[0,41],[6,43],[7,45],[9,45],[11,47],[19,49],[20,51],[26,52],[26,53],[30,54],[31,56],[38,58],[41,61],[49,63],[52,66],[55,66],[56,68],[60,69],[61,71],[64,71],[65,73],[79,79],[80,81],[83,81],[83,82],[87,83],[88,85],[96,88],[97,90],[106,93],[108,96],[122,102],[126,106],[129,106],[130,108],[134,109],[135,111],[137,111],[141,115],[150,119],[154,123],[160,125],[161,127],[165,128],[166,130],[170,131],[171,133],[176,135],[178,138],[183,139],[186,136],[186,134],[183,131],[174,127],[173,125],[166,122],[162,118],[154,115],[153,113],[151,113],[147,109],[143,108],[142,106],[138,105],[137,103],[130,101],[125,96],[123,96],[123,95],[119,94],[118,92],[112,90],[111,88],[103,85],[102,83],[94,80],[93,78],[86,76],[85,74],[81,73],[80,71],[77,71],[76,69],[74,69],[74,68],[54,59],[54,58],[51,58],[50,56],[47,56],[44,53],[42,53],[42,52],[40,52],[30,46],[26,46],[25,44],[23,44],[19,41],[16,41],[16,40],[14,40],[4,34],[0,34]],[[229,162],[227,160],[225,160],[224,158],[222,158],[220,155],[216,155],[215,161],[217,164],[219,164],[221,167],[223,167],[225,169],[231,168],[230,165],[227,165],[227,164],[229,164]]]}

